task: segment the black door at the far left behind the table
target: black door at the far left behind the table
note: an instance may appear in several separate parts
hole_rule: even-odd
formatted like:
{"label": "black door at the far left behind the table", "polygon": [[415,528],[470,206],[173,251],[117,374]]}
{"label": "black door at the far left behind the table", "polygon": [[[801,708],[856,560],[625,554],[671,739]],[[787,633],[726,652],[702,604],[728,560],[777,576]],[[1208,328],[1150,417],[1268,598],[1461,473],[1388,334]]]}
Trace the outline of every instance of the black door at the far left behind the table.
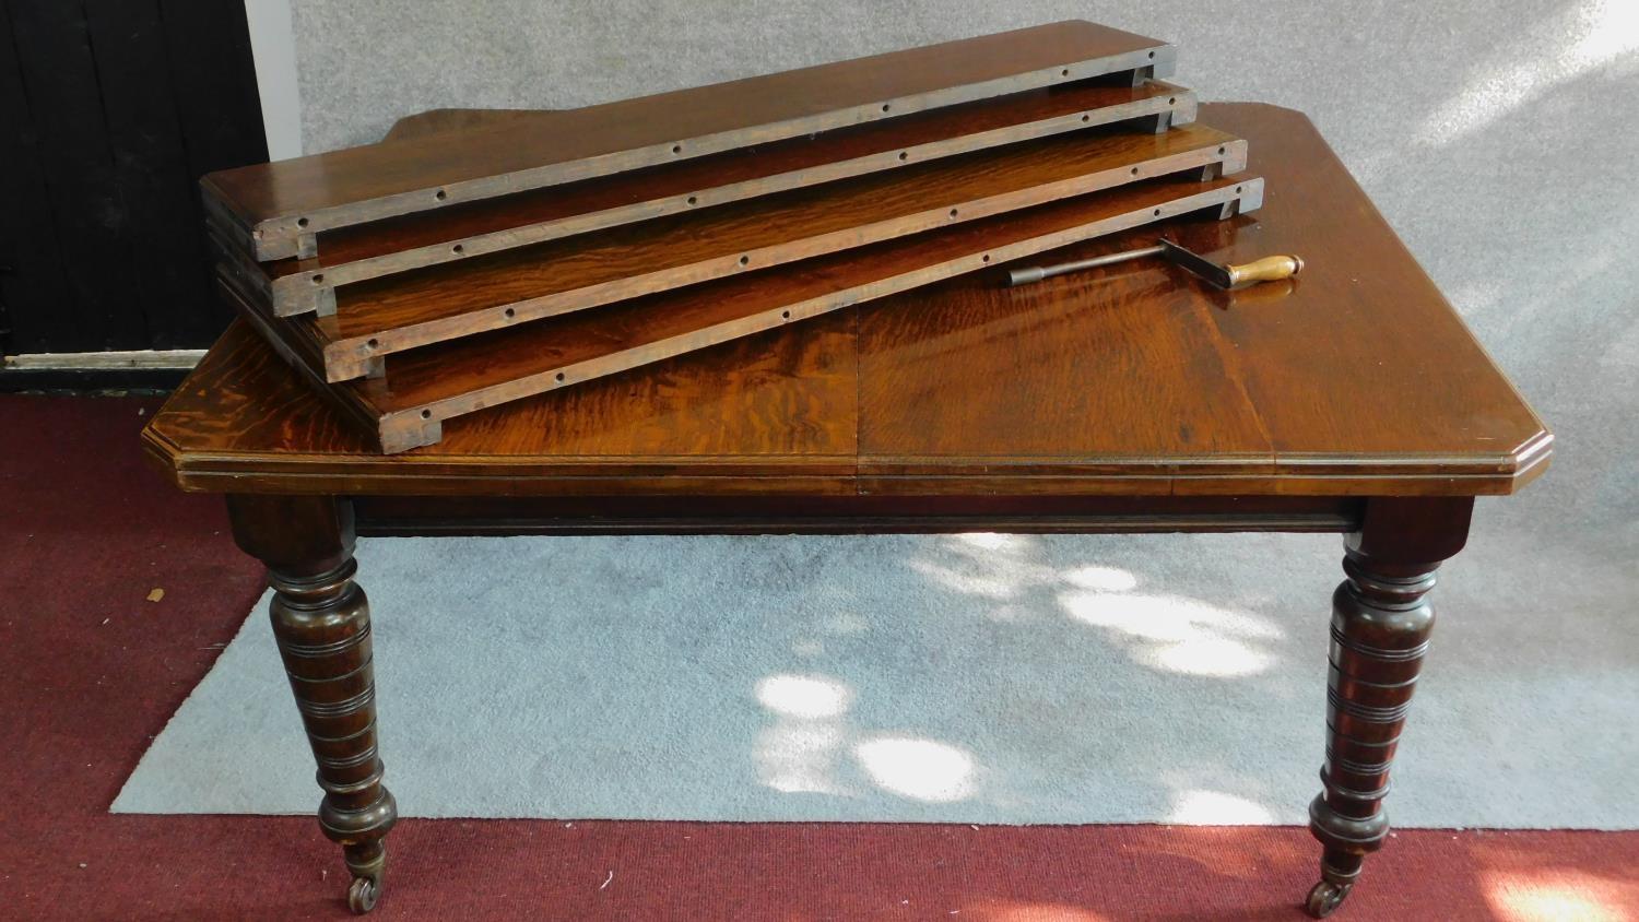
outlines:
{"label": "black door at the far left behind the table", "polygon": [[198,177],[266,159],[239,0],[0,0],[0,350],[208,346]]}

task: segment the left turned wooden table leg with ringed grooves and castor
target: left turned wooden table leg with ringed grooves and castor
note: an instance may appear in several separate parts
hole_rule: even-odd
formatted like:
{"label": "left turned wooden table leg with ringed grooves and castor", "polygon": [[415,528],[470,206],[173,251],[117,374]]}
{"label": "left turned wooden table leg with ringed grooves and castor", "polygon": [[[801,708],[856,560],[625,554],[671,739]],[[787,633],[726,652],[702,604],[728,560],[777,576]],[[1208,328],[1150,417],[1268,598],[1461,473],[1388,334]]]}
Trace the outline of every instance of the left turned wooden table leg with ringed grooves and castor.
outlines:
{"label": "left turned wooden table leg with ringed grooves and castor", "polygon": [[352,506],[331,496],[228,496],[239,547],[267,565],[279,655],[306,729],[320,829],[343,847],[347,906],[369,912],[382,894],[384,838],[398,819],[375,750],[370,606],[352,581]]}

